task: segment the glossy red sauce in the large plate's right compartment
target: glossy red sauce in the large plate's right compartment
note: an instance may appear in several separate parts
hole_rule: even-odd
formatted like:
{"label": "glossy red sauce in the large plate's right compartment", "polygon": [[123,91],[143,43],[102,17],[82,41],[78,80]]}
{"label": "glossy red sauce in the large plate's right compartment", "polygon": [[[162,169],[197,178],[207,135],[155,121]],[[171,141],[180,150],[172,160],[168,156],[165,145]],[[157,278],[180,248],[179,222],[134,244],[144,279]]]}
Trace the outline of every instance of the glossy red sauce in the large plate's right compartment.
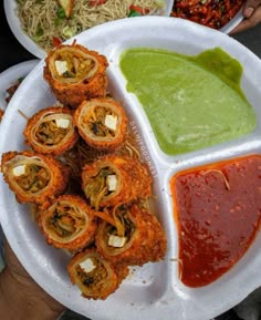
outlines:
{"label": "glossy red sauce in the large plate's right compartment", "polygon": [[261,156],[194,168],[173,177],[179,273],[206,286],[247,251],[261,218]]}

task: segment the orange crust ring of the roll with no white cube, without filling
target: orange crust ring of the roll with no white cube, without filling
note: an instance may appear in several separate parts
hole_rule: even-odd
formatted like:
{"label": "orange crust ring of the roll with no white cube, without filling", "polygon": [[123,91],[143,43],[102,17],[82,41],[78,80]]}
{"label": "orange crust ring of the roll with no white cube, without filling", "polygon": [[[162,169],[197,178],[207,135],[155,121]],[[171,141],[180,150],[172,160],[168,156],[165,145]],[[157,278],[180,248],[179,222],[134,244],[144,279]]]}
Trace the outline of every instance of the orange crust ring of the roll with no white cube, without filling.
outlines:
{"label": "orange crust ring of the roll with no white cube, without filling", "polygon": [[[81,213],[86,215],[86,220],[84,221],[85,225],[82,226],[81,229],[76,229],[73,238],[67,240],[66,238],[69,237],[61,237],[56,233],[54,234],[53,230],[50,229],[50,227],[46,225],[46,219],[53,217],[53,211],[55,210],[58,204],[61,202],[65,203],[66,206],[72,205],[72,208],[76,207],[79,211],[81,210]],[[69,219],[71,217],[69,217]],[[82,197],[76,195],[60,196],[52,203],[49,208],[46,208],[46,210],[40,214],[38,223],[49,245],[53,245],[55,248],[67,249],[71,252],[76,252],[90,245],[94,240],[94,236],[97,229],[97,221],[93,209]]]}

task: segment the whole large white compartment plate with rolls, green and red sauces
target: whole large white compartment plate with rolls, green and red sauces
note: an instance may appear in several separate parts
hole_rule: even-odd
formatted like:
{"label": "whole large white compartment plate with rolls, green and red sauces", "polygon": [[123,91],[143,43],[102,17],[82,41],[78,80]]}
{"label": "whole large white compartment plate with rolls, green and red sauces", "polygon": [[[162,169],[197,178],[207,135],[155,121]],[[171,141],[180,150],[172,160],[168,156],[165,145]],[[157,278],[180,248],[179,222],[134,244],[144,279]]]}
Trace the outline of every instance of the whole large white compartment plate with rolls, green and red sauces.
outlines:
{"label": "whole large white compartment plate with rolls, green and red sauces", "polygon": [[260,75],[167,17],[50,51],[0,126],[1,226],[32,278],[100,320],[209,320],[259,287]]}

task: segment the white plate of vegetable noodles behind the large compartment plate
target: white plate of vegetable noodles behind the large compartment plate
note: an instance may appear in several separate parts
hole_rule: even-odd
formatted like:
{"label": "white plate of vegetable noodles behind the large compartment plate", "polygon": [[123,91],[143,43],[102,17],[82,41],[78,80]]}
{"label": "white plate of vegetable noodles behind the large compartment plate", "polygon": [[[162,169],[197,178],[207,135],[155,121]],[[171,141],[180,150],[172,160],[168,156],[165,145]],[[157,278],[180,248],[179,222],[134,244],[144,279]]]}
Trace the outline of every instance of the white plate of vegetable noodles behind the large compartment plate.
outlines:
{"label": "white plate of vegetable noodles behind the large compartment plate", "polygon": [[72,0],[66,10],[60,4],[62,2],[4,0],[7,20],[13,34],[38,58],[94,25],[127,17],[169,16],[173,7],[173,0]]}

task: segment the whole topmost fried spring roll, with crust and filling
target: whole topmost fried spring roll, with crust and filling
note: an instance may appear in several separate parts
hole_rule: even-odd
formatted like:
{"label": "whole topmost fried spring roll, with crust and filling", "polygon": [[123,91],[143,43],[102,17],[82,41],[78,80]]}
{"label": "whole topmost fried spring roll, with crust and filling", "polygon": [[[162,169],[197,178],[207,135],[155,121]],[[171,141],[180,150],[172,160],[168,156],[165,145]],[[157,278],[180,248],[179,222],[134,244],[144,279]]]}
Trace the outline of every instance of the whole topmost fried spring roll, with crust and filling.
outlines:
{"label": "whole topmost fried spring roll, with crust and filling", "polygon": [[[56,61],[67,61],[69,71],[59,72]],[[90,62],[92,69],[82,65]],[[86,64],[87,65],[87,64]],[[59,45],[45,58],[43,76],[56,99],[64,105],[76,107],[82,101],[105,96],[107,91],[106,58],[83,45]]]}

